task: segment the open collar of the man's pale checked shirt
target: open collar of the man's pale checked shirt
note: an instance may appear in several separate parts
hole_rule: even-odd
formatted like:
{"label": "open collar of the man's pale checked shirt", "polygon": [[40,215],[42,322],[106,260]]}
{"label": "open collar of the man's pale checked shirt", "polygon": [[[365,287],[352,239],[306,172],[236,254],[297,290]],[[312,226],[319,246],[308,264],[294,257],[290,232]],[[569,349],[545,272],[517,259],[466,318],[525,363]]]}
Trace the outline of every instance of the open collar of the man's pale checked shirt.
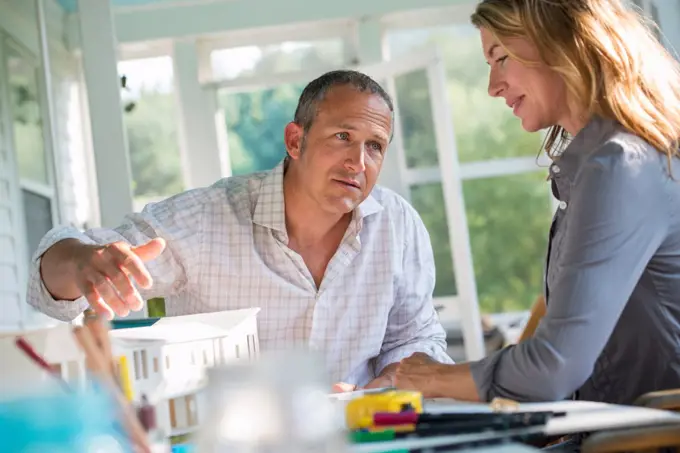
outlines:
{"label": "open collar of the man's pale checked shirt", "polygon": [[[285,159],[276,167],[268,171],[262,178],[260,189],[255,201],[253,223],[286,234],[286,210],[283,197],[283,174],[286,168]],[[352,222],[357,224],[357,231],[361,229],[363,220],[384,209],[383,205],[369,194],[359,204],[352,215]]]}

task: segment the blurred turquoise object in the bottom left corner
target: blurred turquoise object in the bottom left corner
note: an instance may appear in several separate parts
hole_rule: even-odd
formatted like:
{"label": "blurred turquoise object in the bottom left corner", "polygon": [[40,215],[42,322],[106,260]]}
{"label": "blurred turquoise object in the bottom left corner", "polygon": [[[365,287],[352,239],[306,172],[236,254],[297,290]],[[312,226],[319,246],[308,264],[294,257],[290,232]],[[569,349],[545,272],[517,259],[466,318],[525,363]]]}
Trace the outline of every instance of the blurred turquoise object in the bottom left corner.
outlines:
{"label": "blurred turquoise object in the bottom left corner", "polygon": [[102,392],[0,401],[2,451],[132,453],[113,401]]}

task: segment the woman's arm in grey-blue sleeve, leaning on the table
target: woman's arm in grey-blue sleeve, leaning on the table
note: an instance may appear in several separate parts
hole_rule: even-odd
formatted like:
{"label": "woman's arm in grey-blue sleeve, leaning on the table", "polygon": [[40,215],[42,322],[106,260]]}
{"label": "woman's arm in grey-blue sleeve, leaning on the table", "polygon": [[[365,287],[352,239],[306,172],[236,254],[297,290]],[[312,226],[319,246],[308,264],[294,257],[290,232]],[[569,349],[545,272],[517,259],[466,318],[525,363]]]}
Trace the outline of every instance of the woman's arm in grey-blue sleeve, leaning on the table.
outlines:
{"label": "woman's arm in grey-blue sleeve, leaning on the table", "polygon": [[583,385],[666,235],[664,171],[659,154],[639,145],[610,142],[589,156],[573,185],[569,229],[551,262],[557,277],[535,335],[470,363],[469,370],[438,367],[449,379],[431,379],[439,384],[428,392],[542,401],[563,399]]}

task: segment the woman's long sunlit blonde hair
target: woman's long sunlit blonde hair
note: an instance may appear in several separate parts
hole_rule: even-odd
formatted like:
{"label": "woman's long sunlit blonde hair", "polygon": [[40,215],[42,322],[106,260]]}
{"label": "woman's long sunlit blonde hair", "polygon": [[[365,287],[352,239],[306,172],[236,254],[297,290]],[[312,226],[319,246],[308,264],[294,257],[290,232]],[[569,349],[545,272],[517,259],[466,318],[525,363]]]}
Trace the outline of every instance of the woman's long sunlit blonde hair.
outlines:
{"label": "woman's long sunlit blonde hair", "polygon": [[[563,78],[570,102],[588,116],[617,120],[669,163],[678,155],[680,65],[652,25],[620,0],[483,0],[471,20],[501,46],[507,38],[532,42],[541,62]],[[567,138],[552,126],[546,152]]]}

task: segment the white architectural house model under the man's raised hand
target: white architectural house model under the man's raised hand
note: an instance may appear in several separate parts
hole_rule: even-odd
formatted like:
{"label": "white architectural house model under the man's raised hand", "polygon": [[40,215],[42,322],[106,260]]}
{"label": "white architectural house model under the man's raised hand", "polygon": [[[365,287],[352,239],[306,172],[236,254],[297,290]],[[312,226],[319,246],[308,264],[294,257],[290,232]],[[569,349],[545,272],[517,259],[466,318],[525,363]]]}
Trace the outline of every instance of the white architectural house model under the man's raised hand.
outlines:
{"label": "white architectural house model under the man's raised hand", "polygon": [[146,395],[166,436],[189,434],[201,422],[206,368],[259,356],[258,312],[168,317],[148,327],[111,331],[114,358],[127,358],[135,402]]}

